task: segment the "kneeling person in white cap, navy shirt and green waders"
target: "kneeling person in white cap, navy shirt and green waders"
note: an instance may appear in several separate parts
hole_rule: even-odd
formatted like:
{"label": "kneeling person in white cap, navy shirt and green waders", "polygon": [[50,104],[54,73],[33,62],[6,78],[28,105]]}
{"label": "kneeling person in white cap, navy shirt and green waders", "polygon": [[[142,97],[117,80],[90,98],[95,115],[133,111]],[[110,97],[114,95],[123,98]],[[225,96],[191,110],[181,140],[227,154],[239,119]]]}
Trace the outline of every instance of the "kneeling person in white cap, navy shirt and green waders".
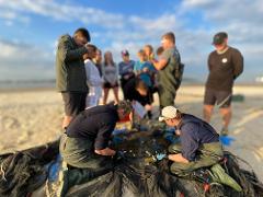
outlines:
{"label": "kneeling person in white cap, navy shirt and green waders", "polygon": [[162,109],[160,121],[165,121],[170,127],[175,127],[175,134],[180,136],[181,143],[169,147],[168,159],[173,161],[170,170],[178,176],[198,176],[202,167],[211,166],[211,179],[231,186],[236,190],[241,187],[225,173],[218,162],[224,158],[222,147],[219,142],[219,135],[206,121],[190,115],[183,114],[174,106],[167,106]]}

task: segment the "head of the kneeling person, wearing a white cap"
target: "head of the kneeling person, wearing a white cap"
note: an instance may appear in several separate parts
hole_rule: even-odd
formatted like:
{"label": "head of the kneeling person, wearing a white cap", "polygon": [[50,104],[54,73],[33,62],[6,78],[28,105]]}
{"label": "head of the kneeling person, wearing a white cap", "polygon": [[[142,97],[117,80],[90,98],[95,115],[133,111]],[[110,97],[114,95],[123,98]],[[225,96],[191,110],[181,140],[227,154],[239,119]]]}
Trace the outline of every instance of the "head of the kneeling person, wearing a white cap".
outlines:
{"label": "head of the kneeling person, wearing a white cap", "polygon": [[170,127],[175,127],[182,120],[182,113],[174,106],[165,106],[161,111],[159,121],[165,121]]}

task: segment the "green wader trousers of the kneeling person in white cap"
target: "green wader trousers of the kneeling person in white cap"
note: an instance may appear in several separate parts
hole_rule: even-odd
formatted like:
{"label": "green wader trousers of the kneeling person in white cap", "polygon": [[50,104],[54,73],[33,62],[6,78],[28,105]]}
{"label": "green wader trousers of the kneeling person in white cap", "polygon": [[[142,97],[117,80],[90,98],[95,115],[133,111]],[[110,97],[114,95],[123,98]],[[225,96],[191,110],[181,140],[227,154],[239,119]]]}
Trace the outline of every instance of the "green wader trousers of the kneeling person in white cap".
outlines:
{"label": "green wader trousers of the kneeling person in white cap", "polygon": [[[170,153],[180,153],[182,150],[181,144],[171,144],[169,147]],[[213,143],[204,143],[197,150],[196,160],[190,163],[181,163],[181,162],[173,162],[170,170],[173,174],[179,176],[186,176],[192,171],[211,166],[224,157],[222,147],[220,142],[213,142]]]}

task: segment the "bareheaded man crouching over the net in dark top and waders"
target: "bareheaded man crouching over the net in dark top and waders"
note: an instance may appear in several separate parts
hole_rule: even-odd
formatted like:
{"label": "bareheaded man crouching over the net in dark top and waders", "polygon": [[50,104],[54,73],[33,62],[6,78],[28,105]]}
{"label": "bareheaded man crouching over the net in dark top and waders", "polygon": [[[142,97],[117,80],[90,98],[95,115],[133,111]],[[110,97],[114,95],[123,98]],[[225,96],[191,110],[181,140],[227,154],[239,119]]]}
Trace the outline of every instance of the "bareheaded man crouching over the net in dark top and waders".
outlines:
{"label": "bareheaded man crouching over the net in dark top and waders", "polygon": [[68,169],[62,171],[58,196],[68,188],[107,173],[113,167],[116,151],[108,147],[118,120],[133,111],[132,103],[99,105],[81,112],[60,139],[59,151]]}

